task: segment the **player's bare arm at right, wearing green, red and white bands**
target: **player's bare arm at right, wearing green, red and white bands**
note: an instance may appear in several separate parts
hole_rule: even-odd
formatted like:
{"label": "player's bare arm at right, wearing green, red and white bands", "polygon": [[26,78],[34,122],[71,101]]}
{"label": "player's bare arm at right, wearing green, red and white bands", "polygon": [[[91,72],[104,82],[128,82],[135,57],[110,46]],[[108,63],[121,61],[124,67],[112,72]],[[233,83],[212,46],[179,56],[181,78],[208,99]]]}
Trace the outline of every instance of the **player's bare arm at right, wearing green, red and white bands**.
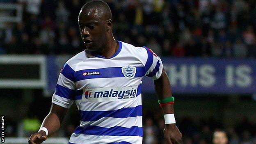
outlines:
{"label": "player's bare arm at right, wearing green, red and white bands", "polygon": [[[154,80],[155,91],[158,99],[162,100],[171,96],[171,85],[165,69],[162,70],[160,78]],[[163,105],[162,110],[164,114],[174,114],[174,108],[172,104]],[[164,129],[165,140],[167,144],[181,144],[182,135],[178,130],[176,124],[165,124]]]}

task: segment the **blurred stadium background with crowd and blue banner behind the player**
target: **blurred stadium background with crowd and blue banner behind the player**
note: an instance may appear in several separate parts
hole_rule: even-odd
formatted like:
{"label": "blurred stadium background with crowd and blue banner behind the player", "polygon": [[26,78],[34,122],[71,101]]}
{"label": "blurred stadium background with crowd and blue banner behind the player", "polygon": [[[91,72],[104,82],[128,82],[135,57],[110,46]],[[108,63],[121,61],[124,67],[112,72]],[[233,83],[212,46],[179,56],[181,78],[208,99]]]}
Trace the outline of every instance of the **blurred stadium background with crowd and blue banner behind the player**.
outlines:
{"label": "blurred stadium background with crowd and blue banner behind the player", "polygon": [[[85,2],[0,0],[0,114],[5,137],[25,137],[12,138],[16,144],[37,132],[59,70],[85,49],[77,22]],[[224,130],[229,144],[256,144],[255,0],[105,2],[117,40],[147,46],[162,58],[184,144],[212,144],[215,130]],[[164,144],[157,100],[145,78],[144,144]],[[69,139],[79,117],[73,105],[52,137]]]}

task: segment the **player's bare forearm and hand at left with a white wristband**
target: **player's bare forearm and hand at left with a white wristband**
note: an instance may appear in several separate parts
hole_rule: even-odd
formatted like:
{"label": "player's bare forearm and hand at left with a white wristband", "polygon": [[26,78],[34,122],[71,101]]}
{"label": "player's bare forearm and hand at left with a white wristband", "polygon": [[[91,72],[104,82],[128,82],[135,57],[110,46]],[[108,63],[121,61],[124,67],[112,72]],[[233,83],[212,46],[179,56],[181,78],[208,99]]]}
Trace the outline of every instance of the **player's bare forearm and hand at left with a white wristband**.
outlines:
{"label": "player's bare forearm and hand at left with a white wristband", "polygon": [[[59,127],[60,123],[62,122],[67,109],[52,103],[50,112],[43,120],[41,127],[46,127],[48,130],[48,135],[56,132]],[[43,141],[47,139],[46,132],[40,130],[38,133],[34,133],[30,136],[28,140],[29,144],[41,144]]]}

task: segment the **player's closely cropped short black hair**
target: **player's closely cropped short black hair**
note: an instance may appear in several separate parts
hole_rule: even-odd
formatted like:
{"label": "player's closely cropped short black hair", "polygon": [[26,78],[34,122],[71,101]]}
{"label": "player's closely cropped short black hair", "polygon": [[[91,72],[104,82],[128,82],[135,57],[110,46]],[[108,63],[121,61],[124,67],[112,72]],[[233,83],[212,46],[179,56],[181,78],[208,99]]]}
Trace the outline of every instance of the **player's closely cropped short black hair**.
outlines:
{"label": "player's closely cropped short black hair", "polygon": [[106,2],[103,2],[102,0],[91,0],[82,6],[82,10],[92,8],[99,9],[102,16],[105,16],[107,20],[112,19],[110,7],[107,5]]}

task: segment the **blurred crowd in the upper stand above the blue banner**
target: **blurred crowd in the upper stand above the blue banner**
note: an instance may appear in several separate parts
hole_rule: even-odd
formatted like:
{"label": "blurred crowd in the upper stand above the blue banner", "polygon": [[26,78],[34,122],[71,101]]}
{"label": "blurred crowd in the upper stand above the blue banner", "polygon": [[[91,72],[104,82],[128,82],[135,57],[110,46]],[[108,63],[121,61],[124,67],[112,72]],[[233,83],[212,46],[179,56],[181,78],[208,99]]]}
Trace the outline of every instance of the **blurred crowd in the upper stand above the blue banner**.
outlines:
{"label": "blurred crowd in the upper stand above the blue banner", "polygon": [[[255,0],[105,0],[117,40],[175,57],[256,57]],[[23,21],[0,31],[1,54],[75,54],[86,0],[0,0]]]}

